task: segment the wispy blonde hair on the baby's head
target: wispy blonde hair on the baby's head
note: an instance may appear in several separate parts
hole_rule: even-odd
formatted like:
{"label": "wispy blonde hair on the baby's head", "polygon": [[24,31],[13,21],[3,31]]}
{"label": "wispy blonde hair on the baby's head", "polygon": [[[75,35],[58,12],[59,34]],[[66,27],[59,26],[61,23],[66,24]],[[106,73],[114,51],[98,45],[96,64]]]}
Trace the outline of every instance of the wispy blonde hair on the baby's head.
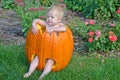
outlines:
{"label": "wispy blonde hair on the baby's head", "polygon": [[65,7],[65,4],[55,4],[48,9],[47,13],[49,11],[55,12],[58,18],[63,19]]}

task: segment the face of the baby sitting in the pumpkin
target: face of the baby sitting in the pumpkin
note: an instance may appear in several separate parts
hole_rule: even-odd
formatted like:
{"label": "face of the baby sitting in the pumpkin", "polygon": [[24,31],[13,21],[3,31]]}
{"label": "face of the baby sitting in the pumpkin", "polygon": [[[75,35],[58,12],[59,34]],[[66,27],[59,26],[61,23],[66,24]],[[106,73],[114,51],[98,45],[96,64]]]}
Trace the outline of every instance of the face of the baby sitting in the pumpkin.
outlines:
{"label": "face of the baby sitting in the pumpkin", "polygon": [[61,22],[61,19],[58,18],[57,12],[49,11],[47,14],[46,22],[50,26],[55,26]]}

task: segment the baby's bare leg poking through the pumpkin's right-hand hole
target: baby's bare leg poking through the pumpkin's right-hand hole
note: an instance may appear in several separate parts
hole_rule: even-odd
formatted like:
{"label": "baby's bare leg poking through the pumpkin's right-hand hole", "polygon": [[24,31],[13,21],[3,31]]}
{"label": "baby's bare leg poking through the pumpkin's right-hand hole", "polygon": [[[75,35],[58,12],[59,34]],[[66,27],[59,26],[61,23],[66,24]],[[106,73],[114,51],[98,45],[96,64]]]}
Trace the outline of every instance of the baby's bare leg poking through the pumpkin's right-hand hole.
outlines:
{"label": "baby's bare leg poking through the pumpkin's right-hand hole", "polygon": [[48,73],[50,73],[52,71],[52,66],[54,65],[54,61],[52,59],[48,59],[46,61],[45,64],[45,68],[41,74],[41,76],[39,77],[39,79],[41,80],[42,78],[44,78],[44,76],[46,76]]}

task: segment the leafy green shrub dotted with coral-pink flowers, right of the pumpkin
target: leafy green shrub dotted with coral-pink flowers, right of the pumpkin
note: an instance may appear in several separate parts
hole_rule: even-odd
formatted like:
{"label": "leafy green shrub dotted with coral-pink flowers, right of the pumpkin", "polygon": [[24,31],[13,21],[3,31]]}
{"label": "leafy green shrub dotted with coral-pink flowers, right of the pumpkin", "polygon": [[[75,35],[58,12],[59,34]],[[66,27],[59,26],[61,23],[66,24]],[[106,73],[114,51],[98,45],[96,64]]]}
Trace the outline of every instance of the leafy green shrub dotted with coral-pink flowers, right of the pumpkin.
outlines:
{"label": "leafy green shrub dotted with coral-pink flowers, right of the pumpkin", "polygon": [[[112,26],[111,26],[112,25]],[[90,25],[85,26],[86,28]],[[100,50],[120,50],[120,23],[106,25],[106,28],[102,30],[102,27],[97,29],[95,25],[92,27],[95,30],[89,28],[86,39],[86,47],[89,51]]]}

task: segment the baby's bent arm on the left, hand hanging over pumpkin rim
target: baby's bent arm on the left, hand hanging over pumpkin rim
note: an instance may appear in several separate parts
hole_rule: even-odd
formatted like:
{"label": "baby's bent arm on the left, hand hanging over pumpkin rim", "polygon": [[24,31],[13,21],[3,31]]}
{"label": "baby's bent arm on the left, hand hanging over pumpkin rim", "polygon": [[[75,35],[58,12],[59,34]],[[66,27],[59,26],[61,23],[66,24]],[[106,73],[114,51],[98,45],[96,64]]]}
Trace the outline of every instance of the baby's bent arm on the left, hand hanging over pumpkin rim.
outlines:
{"label": "baby's bent arm on the left, hand hanging over pumpkin rim", "polygon": [[45,22],[40,20],[40,19],[35,19],[32,22],[32,32],[33,33],[37,33],[38,28],[37,28],[37,24],[40,24],[41,26],[45,26]]}

